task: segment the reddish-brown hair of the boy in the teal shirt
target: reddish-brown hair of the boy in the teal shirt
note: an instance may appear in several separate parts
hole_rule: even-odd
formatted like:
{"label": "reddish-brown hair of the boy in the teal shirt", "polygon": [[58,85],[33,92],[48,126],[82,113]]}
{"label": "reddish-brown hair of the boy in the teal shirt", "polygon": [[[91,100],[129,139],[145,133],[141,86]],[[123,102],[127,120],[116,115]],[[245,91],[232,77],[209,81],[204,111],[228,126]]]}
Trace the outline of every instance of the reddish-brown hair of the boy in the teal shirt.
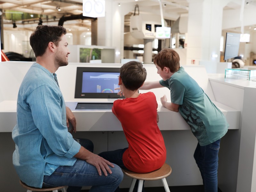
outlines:
{"label": "reddish-brown hair of the boy in the teal shirt", "polygon": [[180,68],[180,56],[173,49],[162,49],[154,58],[154,64],[158,65],[162,70],[168,67],[172,73]]}

